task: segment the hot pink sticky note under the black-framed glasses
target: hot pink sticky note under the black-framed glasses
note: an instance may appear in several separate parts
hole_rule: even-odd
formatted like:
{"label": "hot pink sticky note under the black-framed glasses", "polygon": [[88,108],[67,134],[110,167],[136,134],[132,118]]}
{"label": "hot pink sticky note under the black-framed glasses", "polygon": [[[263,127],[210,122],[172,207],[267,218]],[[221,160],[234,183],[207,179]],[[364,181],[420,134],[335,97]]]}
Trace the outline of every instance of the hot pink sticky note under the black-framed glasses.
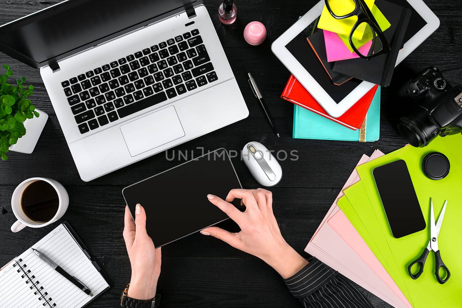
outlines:
{"label": "hot pink sticky note under the black-framed glasses", "polygon": [[[345,43],[340,39],[337,33],[323,30],[324,31],[324,42],[326,44],[327,61],[334,62],[340,60],[356,59],[359,55],[350,50],[345,46]],[[363,47],[359,48],[361,54],[367,54],[371,48],[372,40],[367,42]]]}

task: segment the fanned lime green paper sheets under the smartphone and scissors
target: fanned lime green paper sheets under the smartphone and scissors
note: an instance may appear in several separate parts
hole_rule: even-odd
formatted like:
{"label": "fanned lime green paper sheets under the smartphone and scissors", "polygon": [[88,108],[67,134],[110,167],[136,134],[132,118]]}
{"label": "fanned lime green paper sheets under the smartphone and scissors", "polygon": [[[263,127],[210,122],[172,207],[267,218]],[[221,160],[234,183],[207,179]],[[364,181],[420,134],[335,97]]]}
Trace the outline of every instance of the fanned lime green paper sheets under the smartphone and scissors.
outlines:
{"label": "fanned lime green paper sheets under the smartphone and scissors", "polygon": [[[443,180],[433,181],[422,172],[421,163],[426,154],[444,153],[450,160],[450,174]],[[406,146],[386,156],[359,166],[361,181],[345,190],[346,196],[338,205],[350,219],[359,234],[369,245],[395,283],[415,308],[462,307],[462,136],[438,137],[425,148]],[[427,228],[409,236],[396,239],[392,236],[372,177],[375,167],[403,159],[413,180]],[[450,269],[446,284],[435,278],[434,254],[430,253],[424,272],[413,280],[407,273],[410,262],[420,256],[428,244],[430,197],[433,198],[435,217],[448,200],[438,244],[441,257]]]}

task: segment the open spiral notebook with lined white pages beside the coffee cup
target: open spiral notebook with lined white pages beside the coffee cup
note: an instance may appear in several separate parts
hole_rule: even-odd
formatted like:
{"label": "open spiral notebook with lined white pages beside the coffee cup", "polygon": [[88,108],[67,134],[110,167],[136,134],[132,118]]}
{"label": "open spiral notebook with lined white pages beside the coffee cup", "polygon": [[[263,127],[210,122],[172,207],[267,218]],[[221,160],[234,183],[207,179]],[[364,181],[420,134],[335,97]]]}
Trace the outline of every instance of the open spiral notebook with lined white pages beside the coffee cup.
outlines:
{"label": "open spiral notebook with lined white pages beside the coffee cup", "polygon": [[[35,248],[78,278],[93,292],[86,295],[74,284],[40,260]],[[2,307],[81,308],[109,290],[106,274],[91,260],[73,229],[62,223],[23,254],[0,269]]]}

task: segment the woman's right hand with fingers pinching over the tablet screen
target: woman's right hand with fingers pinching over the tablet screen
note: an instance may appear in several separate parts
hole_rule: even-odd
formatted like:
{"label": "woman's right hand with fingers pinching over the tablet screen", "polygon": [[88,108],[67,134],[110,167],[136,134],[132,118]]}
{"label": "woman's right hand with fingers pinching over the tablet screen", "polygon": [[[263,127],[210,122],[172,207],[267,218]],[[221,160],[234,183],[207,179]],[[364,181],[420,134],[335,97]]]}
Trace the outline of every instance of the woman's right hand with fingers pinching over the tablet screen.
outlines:
{"label": "woman's right hand with fingers pinching over the tablet screen", "polygon": [[[273,214],[273,195],[265,189],[233,189],[226,201],[207,195],[214,205],[234,220],[241,232],[231,233],[218,227],[203,229],[201,234],[214,236],[232,247],[252,254],[272,266],[282,278],[292,277],[308,262],[287,244]],[[242,199],[246,211],[239,211],[231,202]]]}

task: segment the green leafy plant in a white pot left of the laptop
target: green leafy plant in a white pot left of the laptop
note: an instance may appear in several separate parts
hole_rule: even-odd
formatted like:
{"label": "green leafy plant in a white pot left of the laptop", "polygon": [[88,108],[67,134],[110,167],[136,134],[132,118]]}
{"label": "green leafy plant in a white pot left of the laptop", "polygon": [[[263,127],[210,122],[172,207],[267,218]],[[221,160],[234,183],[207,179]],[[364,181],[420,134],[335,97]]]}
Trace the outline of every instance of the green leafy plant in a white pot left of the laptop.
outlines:
{"label": "green leafy plant in a white pot left of the laptop", "polygon": [[8,65],[3,67],[6,73],[0,74],[0,157],[7,160],[10,150],[28,154],[34,151],[48,115],[36,109],[28,98],[34,87],[24,86],[26,78],[16,79],[16,85],[9,84],[13,71]]}

